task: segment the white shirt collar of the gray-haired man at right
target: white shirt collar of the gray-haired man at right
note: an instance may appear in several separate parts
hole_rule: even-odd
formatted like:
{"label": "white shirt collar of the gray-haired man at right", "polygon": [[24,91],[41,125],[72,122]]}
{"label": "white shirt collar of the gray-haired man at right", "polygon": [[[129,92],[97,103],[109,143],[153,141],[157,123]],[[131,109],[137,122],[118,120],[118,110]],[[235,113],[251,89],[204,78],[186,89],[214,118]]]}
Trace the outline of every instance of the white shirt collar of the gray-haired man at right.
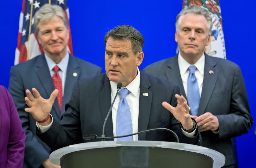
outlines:
{"label": "white shirt collar of the gray-haired man at right", "polygon": [[[204,63],[205,63],[205,55],[203,53],[200,59],[194,64],[201,74],[204,74]],[[181,75],[184,75],[188,70],[189,66],[191,65],[186,60],[183,59],[183,57],[180,55],[180,52],[178,54],[178,64],[179,64]]]}

